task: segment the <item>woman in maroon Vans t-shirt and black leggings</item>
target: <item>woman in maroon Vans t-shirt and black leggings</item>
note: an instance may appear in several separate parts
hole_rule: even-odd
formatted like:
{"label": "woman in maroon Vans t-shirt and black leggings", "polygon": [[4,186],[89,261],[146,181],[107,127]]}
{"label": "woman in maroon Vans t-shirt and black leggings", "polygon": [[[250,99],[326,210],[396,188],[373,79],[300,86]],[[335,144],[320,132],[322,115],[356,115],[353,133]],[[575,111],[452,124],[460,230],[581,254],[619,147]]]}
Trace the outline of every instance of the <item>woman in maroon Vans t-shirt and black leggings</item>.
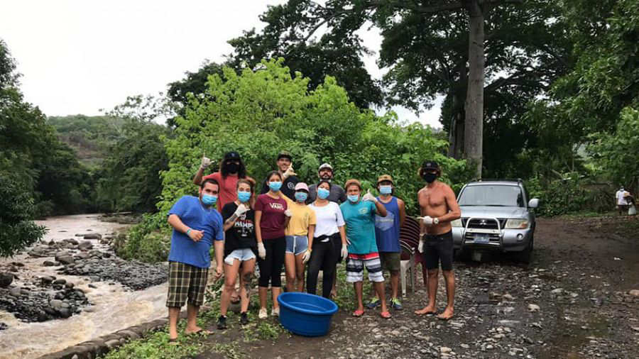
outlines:
{"label": "woman in maroon Vans t-shirt and black leggings", "polygon": [[286,205],[282,187],[282,175],[278,171],[269,172],[266,176],[268,192],[260,194],[255,201],[255,234],[258,245],[258,265],[260,266],[259,294],[260,313],[258,317],[265,319],[266,295],[268,282],[271,281],[273,294],[272,316],[280,315],[278,295],[282,287],[280,273],[284,265],[286,239],[284,231],[290,221],[290,211]]}

